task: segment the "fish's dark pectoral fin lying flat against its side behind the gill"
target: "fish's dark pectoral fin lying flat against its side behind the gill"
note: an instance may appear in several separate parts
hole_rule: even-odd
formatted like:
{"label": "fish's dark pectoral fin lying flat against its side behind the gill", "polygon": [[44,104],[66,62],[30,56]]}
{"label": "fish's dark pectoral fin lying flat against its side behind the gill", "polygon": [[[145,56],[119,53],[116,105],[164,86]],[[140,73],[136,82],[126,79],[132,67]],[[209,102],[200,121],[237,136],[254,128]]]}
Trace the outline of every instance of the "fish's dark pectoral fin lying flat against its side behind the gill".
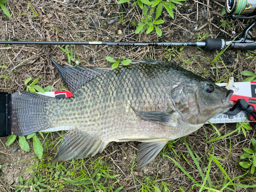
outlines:
{"label": "fish's dark pectoral fin lying flat against its side behind the gill", "polygon": [[[130,105],[131,106],[131,105]],[[161,112],[161,111],[151,111],[151,112],[143,112],[143,111],[137,111],[132,106],[134,113],[139,116],[141,119],[145,119],[148,121],[154,121],[157,123],[161,123],[168,126],[175,126],[176,121],[173,121],[172,114],[174,111],[167,113],[167,112]]]}

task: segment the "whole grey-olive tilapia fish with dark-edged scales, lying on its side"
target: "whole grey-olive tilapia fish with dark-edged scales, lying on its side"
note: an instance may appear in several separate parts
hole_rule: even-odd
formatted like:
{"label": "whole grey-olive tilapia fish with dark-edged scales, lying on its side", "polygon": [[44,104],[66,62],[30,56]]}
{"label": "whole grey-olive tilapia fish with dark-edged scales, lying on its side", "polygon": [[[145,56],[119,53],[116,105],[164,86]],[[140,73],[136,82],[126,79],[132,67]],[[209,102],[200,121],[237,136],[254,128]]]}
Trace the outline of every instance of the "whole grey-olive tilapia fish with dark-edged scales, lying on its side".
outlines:
{"label": "whole grey-olive tilapia fish with dark-edged scales, lying on its side", "polygon": [[9,104],[15,135],[75,126],[52,162],[94,156],[111,141],[140,141],[137,166],[142,167],[169,140],[195,132],[233,104],[231,90],[169,62],[133,61],[116,69],[52,62],[73,97],[18,91]]}

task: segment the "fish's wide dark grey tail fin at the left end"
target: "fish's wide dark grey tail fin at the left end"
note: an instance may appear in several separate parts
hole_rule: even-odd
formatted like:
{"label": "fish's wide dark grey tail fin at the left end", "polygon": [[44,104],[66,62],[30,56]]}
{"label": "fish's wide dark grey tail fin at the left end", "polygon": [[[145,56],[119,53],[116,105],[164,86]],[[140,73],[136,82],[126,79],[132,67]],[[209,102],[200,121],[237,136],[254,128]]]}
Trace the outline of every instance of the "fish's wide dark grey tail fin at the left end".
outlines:
{"label": "fish's wide dark grey tail fin at the left end", "polygon": [[50,123],[46,119],[50,99],[26,91],[13,93],[8,106],[12,133],[24,136],[50,128]]}

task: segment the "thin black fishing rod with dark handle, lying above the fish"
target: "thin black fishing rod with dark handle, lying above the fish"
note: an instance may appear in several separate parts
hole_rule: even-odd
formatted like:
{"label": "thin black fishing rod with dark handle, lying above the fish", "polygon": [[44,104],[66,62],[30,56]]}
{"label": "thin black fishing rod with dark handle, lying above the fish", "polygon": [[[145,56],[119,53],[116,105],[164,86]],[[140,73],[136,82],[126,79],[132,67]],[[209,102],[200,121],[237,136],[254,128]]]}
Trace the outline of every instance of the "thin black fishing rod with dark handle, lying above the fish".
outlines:
{"label": "thin black fishing rod with dark handle, lying above the fish", "polygon": [[234,50],[255,50],[256,38],[246,38],[248,32],[256,26],[256,21],[234,39],[207,38],[203,42],[102,42],[102,41],[0,41],[0,44],[22,45],[106,45],[106,46],[186,46],[200,47],[206,51],[222,50],[228,46]]}

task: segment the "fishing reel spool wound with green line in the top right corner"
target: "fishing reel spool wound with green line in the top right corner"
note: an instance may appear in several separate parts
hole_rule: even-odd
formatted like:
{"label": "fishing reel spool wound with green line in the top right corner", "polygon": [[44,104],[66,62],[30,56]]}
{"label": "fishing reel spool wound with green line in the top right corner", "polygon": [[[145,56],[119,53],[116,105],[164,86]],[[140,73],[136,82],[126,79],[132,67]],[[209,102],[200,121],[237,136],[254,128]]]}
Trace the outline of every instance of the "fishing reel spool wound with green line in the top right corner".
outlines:
{"label": "fishing reel spool wound with green line in the top right corner", "polygon": [[228,18],[250,19],[256,16],[256,0],[226,0]]}

